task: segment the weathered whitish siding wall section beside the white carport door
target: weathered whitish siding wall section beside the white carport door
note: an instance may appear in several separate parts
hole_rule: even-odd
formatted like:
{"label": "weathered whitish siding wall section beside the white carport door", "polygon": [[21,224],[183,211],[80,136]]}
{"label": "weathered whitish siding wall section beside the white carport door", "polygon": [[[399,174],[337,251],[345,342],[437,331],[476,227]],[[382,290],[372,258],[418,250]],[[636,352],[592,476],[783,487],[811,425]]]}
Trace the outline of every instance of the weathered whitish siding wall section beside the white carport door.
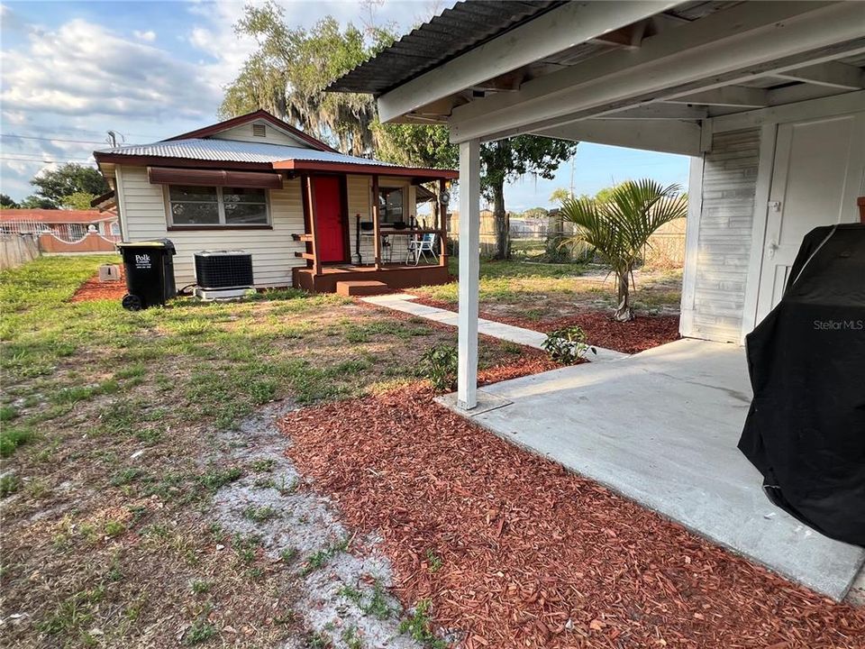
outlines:
{"label": "weathered whitish siding wall section beside the white carport door", "polygon": [[693,337],[740,341],[759,158],[757,128],[715,133],[704,158]]}

